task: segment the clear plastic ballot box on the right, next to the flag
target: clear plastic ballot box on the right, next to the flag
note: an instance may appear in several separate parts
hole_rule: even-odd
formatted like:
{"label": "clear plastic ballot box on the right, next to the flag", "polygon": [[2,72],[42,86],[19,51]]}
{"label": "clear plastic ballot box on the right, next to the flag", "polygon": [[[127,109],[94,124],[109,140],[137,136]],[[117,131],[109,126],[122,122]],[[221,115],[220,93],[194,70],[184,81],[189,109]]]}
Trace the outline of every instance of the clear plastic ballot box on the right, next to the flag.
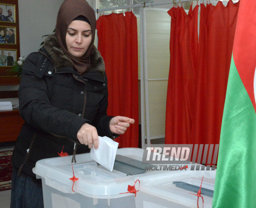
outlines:
{"label": "clear plastic ballot box on the right, next to the flag", "polygon": [[[199,208],[212,208],[216,171],[186,170],[176,174],[159,174],[140,180],[135,198],[137,208],[197,208],[197,194],[201,186]],[[204,176],[202,181],[202,176]],[[190,194],[192,193],[192,194]]]}

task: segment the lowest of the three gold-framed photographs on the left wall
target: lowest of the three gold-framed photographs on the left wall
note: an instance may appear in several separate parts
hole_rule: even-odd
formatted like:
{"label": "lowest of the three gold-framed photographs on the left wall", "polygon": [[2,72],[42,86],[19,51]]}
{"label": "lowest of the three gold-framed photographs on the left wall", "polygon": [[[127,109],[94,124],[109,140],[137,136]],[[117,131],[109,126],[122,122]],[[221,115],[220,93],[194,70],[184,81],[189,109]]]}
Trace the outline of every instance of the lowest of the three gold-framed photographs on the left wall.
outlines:
{"label": "lowest of the three gold-framed photographs on the left wall", "polygon": [[17,50],[0,48],[0,67],[11,67],[17,60]]}

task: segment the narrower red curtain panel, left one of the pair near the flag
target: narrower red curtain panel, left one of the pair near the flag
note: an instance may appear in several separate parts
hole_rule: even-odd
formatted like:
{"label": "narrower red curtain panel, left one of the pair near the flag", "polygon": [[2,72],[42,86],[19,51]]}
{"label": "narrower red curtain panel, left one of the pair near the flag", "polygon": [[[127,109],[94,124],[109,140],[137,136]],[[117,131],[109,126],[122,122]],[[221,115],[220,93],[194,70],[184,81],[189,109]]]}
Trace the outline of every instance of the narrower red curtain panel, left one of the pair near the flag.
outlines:
{"label": "narrower red curtain panel, left one of the pair near the flag", "polygon": [[170,72],[166,100],[166,144],[189,144],[197,73],[198,5],[186,14],[173,7],[171,16]]}

